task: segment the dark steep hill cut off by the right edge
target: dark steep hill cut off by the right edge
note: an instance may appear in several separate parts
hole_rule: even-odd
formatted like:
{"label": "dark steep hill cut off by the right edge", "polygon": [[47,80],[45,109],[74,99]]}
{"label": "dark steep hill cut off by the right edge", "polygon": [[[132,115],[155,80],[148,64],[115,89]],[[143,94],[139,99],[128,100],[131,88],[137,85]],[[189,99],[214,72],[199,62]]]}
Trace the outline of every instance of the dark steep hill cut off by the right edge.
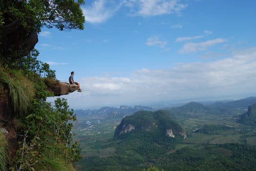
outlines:
{"label": "dark steep hill cut off by the right edge", "polygon": [[256,103],[248,107],[248,111],[241,115],[238,122],[247,126],[256,126]]}

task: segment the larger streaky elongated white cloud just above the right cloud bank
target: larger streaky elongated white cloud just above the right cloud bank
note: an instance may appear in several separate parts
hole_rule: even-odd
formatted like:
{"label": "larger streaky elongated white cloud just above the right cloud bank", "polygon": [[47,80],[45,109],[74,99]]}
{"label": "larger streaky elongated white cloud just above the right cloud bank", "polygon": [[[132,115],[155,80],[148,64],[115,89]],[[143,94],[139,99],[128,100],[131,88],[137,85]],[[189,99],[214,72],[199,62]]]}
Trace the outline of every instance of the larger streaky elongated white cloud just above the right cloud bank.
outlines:
{"label": "larger streaky elongated white cloud just above the right cloud bank", "polygon": [[199,43],[185,43],[180,50],[180,53],[189,53],[189,52],[197,52],[197,51],[205,51],[208,47],[223,43],[225,39],[217,38],[213,40],[207,40]]}

